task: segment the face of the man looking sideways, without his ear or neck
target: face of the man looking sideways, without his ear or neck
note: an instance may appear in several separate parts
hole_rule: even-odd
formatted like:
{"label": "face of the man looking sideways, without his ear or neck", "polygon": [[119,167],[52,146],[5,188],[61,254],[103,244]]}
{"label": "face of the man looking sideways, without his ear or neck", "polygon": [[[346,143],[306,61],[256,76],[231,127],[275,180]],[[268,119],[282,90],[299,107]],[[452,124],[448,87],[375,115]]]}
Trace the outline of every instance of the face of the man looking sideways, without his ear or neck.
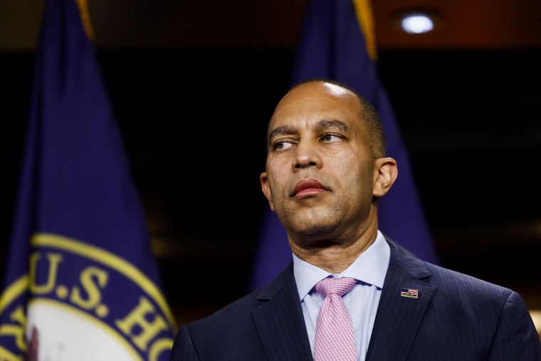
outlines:
{"label": "face of the man looking sideways, without his ear or neck", "polygon": [[378,171],[359,107],[349,90],[317,82],[275,109],[261,187],[290,234],[355,236],[367,226]]}

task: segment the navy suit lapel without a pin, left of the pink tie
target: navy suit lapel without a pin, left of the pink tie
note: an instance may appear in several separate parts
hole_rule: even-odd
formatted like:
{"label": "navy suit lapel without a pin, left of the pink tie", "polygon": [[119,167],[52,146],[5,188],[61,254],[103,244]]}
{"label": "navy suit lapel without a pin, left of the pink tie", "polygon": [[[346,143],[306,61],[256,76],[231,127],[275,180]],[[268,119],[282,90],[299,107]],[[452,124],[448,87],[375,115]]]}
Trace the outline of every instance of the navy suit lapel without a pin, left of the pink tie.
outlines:
{"label": "navy suit lapel without a pin, left of the pink tie", "polygon": [[267,301],[254,309],[252,316],[268,360],[313,360],[293,277],[293,262],[261,290],[258,300]]}

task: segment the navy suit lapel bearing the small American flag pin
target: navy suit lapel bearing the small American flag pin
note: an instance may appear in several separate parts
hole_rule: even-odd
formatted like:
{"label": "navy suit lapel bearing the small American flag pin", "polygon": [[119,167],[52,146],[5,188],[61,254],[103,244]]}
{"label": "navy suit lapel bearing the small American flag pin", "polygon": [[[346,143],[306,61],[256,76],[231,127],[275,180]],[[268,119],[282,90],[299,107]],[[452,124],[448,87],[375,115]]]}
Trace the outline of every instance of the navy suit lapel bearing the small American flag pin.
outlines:
{"label": "navy suit lapel bearing the small American flag pin", "polygon": [[[388,243],[391,260],[374,321],[367,361],[406,359],[416,330],[436,291],[434,286],[420,281],[430,276],[424,262],[409,256],[392,242]],[[419,298],[401,296],[402,288],[419,291]]]}

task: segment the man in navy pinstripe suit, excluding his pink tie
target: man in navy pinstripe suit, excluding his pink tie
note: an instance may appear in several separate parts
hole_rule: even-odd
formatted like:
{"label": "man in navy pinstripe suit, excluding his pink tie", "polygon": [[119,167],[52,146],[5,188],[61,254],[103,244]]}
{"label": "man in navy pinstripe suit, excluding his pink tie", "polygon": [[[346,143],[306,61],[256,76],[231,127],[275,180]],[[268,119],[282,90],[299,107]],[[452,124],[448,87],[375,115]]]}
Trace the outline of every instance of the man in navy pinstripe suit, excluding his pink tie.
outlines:
{"label": "man in navy pinstripe suit, excluding his pink tie", "polygon": [[541,361],[518,293],[385,239],[377,205],[397,174],[367,100],[330,80],[296,85],[269,122],[261,174],[293,259],[266,286],[182,327],[170,360],[314,360],[324,300],[315,284],[350,277],[357,281],[342,299],[356,360]]}

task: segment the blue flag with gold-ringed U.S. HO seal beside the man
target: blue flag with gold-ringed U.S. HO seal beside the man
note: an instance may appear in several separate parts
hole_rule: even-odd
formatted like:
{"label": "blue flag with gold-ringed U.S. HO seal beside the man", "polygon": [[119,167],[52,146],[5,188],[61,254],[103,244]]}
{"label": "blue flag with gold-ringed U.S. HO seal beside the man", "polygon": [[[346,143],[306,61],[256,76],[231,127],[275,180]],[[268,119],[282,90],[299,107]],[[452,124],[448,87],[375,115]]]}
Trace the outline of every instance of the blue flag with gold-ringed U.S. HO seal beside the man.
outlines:
{"label": "blue flag with gold-ringed U.S. HO seal beside the man", "polygon": [[0,360],[166,361],[176,325],[81,14],[46,1]]}

